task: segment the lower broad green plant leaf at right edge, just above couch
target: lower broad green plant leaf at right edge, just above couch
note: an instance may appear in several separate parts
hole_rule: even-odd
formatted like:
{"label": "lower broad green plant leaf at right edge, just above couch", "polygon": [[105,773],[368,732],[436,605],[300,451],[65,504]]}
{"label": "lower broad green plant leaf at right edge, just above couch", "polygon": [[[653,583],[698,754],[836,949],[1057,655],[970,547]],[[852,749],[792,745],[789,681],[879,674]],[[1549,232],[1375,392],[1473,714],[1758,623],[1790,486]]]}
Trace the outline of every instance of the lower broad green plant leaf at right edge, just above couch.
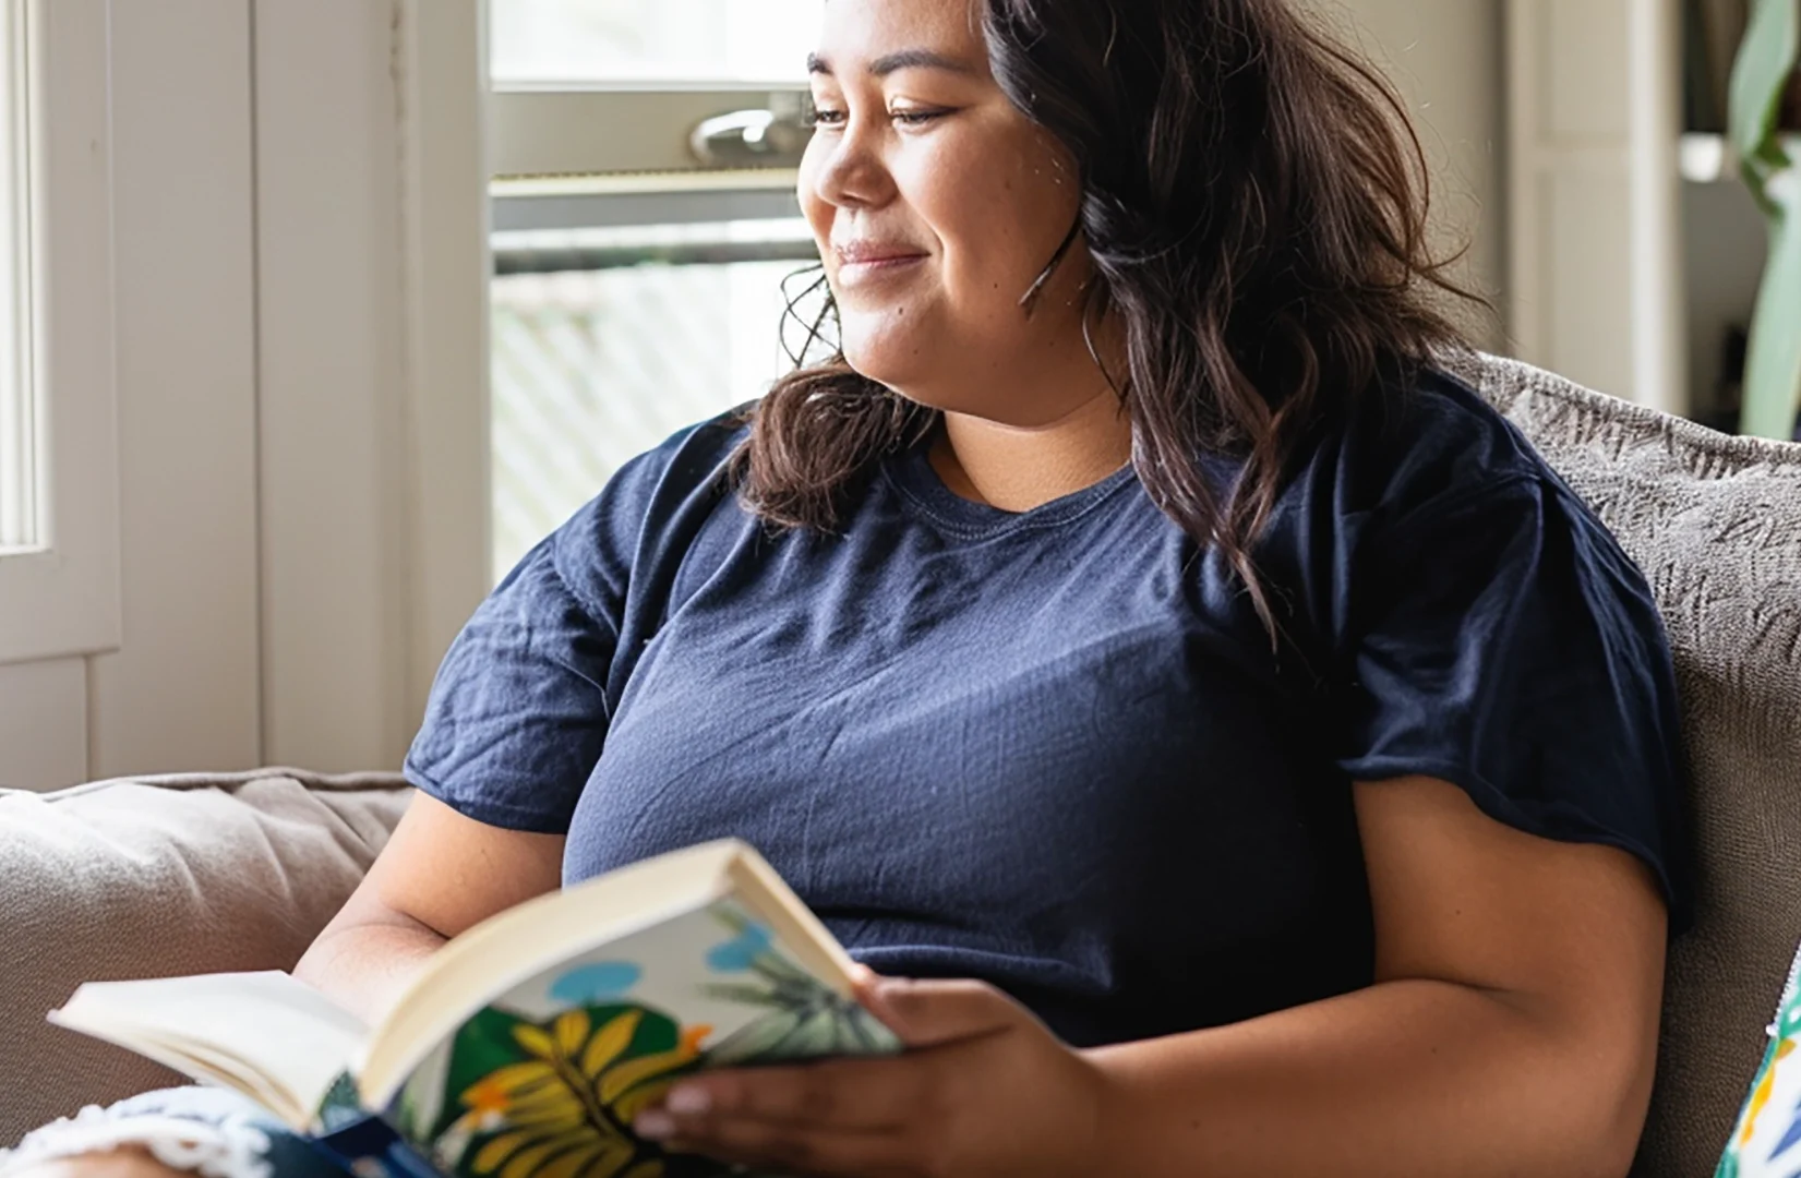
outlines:
{"label": "lower broad green plant leaf at right edge, just above couch", "polygon": [[1770,177],[1770,261],[1745,355],[1740,430],[1788,441],[1801,414],[1801,164]]}

